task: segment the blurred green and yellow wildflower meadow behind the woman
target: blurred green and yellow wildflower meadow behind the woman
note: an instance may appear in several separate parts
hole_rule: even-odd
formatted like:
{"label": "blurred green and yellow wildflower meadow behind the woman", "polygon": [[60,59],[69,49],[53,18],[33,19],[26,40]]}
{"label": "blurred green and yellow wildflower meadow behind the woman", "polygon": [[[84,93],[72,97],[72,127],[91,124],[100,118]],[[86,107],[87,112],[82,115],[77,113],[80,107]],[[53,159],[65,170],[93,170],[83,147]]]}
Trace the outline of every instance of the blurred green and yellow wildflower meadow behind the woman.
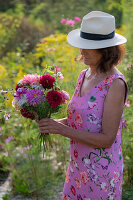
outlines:
{"label": "blurred green and yellow wildflower meadow behind the woman", "polygon": [[[53,149],[42,158],[36,140],[38,127],[12,107],[12,91],[24,74],[41,74],[50,65],[61,68],[62,88],[72,97],[78,75],[86,66],[77,61],[79,50],[69,46],[66,36],[80,28],[82,17],[92,10],[114,15],[116,32],[127,38],[126,56],[118,66],[129,85],[123,115],[122,199],[133,199],[133,1],[0,0],[0,90],[8,91],[0,95],[1,199],[61,198],[69,140],[52,135]],[[66,117],[66,108],[53,118]],[[9,187],[3,187],[5,182]]]}

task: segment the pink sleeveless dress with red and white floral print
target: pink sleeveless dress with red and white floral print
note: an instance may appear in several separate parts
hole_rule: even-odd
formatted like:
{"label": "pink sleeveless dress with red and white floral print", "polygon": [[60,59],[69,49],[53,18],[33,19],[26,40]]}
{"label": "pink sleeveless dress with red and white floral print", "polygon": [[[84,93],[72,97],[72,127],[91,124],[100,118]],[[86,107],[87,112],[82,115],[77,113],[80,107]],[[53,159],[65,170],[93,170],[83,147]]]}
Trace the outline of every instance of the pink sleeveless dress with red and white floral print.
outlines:
{"label": "pink sleeveless dress with red and white floral print", "polygon": [[[80,96],[85,73],[78,78],[75,92],[67,107],[68,126],[99,134],[102,130],[104,100],[112,82],[123,74],[110,75]],[[123,107],[124,110],[124,107]],[[121,147],[122,118],[114,143],[110,148],[92,148],[70,139],[70,162],[64,183],[62,200],[121,200],[123,156]]]}

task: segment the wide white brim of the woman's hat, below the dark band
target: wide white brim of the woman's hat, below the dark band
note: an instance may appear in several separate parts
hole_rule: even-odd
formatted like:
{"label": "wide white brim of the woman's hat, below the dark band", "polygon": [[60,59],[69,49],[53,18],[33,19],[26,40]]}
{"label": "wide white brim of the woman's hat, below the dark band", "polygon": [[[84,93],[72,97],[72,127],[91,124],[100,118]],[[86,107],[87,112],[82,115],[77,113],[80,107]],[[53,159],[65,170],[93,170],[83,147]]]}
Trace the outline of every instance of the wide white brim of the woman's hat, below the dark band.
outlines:
{"label": "wide white brim of the woman's hat, below the dark band", "polygon": [[101,49],[124,44],[127,42],[127,39],[124,36],[115,33],[115,36],[112,39],[88,40],[80,37],[80,29],[75,29],[67,35],[67,41],[71,46],[76,48]]}

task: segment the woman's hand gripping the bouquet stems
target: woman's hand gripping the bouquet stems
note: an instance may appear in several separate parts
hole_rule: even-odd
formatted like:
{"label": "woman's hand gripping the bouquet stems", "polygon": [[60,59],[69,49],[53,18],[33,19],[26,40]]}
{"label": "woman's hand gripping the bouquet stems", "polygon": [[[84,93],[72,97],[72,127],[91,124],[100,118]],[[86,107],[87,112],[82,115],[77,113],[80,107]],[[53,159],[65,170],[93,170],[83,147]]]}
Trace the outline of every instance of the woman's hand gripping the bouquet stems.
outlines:
{"label": "woman's hand gripping the bouquet stems", "polygon": [[53,133],[61,134],[63,124],[58,122],[58,120],[43,118],[37,122],[39,125],[40,133]]}

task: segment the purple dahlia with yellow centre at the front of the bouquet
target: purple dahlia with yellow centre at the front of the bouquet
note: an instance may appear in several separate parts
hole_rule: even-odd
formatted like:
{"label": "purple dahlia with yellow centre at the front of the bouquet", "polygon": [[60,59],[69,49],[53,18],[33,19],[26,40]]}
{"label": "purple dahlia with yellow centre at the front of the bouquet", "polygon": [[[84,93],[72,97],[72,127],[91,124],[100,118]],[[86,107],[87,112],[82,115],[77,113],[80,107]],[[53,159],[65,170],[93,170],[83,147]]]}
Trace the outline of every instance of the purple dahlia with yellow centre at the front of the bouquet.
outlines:
{"label": "purple dahlia with yellow centre at the front of the bouquet", "polygon": [[40,88],[30,89],[27,92],[27,99],[30,106],[37,106],[37,104],[40,104],[41,101],[45,100],[44,92]]}

